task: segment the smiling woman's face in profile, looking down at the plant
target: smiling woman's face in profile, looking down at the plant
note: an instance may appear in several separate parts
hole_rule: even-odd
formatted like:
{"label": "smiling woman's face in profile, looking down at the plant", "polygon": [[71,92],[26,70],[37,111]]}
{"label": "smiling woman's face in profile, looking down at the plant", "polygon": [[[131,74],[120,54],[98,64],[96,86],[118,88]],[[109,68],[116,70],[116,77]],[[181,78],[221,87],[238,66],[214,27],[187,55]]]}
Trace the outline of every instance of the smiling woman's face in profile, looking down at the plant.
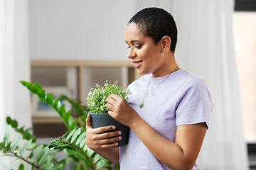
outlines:
{"label": "smiling woman's face in profile, looking down at the plant", "polygon": [[129,23],[125,30],[125,42],[129,49],[127,57],[132,59],[139,75],[152,73],[153,77],[162,76],[160,70],[164,58],[161,57],[161,41],[155,45],[153,39],[144,36],[135,23]]}

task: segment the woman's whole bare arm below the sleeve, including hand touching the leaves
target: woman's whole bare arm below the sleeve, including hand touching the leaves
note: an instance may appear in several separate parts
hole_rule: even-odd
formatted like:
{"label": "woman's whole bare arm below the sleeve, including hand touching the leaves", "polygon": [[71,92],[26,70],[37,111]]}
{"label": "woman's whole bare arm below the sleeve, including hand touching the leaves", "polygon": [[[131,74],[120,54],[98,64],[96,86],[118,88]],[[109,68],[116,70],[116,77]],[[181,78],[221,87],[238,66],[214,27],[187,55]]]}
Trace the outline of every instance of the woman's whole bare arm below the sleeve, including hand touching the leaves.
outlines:
{"label": "woman's whole bare arm below the sleeve, including hand touching the leaves", "polygon": [[109,114],[132,128],[156,159],[171,169],[192,169],[206,135],[206,123],[178,126],[176,140],[171,142],[151,128],[123,98],[112,94],[107,102]]}

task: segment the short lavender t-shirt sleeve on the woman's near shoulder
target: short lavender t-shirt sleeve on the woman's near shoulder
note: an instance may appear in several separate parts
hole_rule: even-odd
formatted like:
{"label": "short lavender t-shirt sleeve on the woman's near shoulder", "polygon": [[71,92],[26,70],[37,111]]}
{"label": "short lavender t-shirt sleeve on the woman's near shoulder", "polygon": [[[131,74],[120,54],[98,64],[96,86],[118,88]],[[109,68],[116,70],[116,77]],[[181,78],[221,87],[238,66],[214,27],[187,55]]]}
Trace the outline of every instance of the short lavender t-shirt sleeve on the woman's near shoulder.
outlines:
{"label": "short lavender t-shirt sleeve on the woman's near shoulder", "polygon": [[205,122],[209,127],[213,104],[206,83],[202,79],[192,79],[184,84],[177,103],[177,126]]}

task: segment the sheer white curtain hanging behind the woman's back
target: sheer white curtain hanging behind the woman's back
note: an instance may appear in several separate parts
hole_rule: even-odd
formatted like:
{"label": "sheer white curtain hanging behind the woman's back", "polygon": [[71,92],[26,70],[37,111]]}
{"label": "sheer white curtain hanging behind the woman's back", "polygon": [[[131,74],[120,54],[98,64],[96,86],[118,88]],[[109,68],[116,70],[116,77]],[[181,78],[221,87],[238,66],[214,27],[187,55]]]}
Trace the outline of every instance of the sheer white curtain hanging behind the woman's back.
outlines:
{"label": "sheer white curtain hanging behind the woman's back", "polygon": [[137,10],[159,6],[178,26],[176,60],[201,77],[210,90],[213,113],[198,166],[202,170],[249,169],[233,45],[233,0],[137,1]]}

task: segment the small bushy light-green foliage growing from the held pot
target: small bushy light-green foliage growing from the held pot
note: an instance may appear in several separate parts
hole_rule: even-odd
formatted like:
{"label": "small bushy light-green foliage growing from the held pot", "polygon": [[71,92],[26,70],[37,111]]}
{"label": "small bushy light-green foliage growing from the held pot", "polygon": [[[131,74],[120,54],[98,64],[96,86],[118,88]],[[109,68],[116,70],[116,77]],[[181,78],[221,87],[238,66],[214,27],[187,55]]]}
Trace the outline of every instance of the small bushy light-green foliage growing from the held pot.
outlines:
{"label": "small bushy light-green foliage growing from the held pot", "polygon": [[114,84],[110,84],[105,81],[104,87],[99,84],[95,85],[95,89],[91,88],[87,95],[87,109],[90,113],[107,113],[109,110],[105,107],[107,97],[111,94],[117,94],[128,101],[128,95],[132,94],[130,91],[124,91],[117,85],[118,81],[114,81]]}

